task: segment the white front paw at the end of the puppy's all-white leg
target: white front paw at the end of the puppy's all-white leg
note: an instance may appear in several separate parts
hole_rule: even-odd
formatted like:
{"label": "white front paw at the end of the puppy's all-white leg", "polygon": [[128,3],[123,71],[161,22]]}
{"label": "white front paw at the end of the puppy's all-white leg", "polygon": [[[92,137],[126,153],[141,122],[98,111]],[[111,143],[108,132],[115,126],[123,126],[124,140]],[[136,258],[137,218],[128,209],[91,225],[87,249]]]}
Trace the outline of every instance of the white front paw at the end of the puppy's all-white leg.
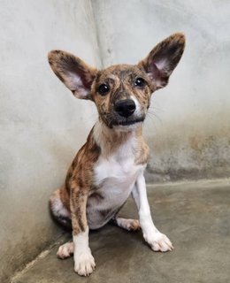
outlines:
{"label": "white front paw at the end of the puppy's all-white leg", "polygon": [[164,233],[152,233],[151,235],[143,235],[145,241],[154,251],[169,251],[173,250],[173,244]]}

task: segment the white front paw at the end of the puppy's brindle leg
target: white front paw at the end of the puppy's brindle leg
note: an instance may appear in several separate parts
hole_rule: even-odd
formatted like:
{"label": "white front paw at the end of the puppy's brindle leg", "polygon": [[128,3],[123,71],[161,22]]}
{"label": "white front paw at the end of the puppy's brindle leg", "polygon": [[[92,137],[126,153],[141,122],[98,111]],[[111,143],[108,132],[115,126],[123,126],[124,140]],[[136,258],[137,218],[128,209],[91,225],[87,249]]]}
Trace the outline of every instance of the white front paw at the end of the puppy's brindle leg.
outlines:
{"label": "white front paw at the end of the puppy's brindle leg", "polygon": [[74,254],[74,271],[80,276],[88,276],[95,270],[95,259],[91,255],[90,249],[88,252],[77,252]]}

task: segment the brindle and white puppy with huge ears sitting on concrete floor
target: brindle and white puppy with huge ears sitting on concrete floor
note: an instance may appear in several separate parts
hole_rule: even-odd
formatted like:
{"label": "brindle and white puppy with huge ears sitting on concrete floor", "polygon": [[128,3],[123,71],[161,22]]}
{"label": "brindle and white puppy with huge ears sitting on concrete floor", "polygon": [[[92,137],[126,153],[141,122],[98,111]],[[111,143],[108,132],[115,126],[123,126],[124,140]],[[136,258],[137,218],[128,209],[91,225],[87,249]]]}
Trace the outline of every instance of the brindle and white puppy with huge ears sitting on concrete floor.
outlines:
{"label": "brindle and white puppy with huge ears sitting on concrete floor", "polygon": [[[50,67],[73,96],[96,104],[98,120],[87,142],[73,159],[65,185],[50,196],[53,217],[73,229],[73,241],[58,256],[73,254],[74,271],[88,276],[96,267],[88,246],[89,229],[113,222],[128,231],[142,229],[154,251],[173,249],[172,242],[154,225],[143,172],[149,147],[142,136],[151,94],[164,88],[185,48],[184,34],[172,34],[137,65],[112,65],[96,70],[79,57],[50,51]],[[119,218],[132,194],[139,220]]]}

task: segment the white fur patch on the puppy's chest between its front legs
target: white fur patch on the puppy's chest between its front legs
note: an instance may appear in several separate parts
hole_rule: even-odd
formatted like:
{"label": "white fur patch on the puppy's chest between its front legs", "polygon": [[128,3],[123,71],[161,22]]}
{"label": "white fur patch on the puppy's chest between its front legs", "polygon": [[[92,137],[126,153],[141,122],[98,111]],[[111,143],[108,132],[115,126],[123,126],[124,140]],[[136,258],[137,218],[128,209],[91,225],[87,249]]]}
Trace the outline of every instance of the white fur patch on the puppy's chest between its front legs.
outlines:
{"label": "white fur patch on the puppy's chest between its front legs", "polygon": [[[130,195],[143,165],[135,164],[136,140],[132,136],[109,157],[99,157],[95,167],[98,193],[103,195],[103,209],[119,207]],[[102,209],[102,208],[101,208]]]}

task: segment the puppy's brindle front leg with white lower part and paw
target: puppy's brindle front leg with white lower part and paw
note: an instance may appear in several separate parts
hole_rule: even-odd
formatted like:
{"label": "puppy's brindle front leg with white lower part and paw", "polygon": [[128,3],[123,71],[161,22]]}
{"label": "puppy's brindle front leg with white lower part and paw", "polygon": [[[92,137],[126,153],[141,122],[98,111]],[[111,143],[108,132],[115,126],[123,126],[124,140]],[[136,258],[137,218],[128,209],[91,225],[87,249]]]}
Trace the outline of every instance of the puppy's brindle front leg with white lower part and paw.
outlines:
{"label": "puppy's brindle front leg with white lower part and paw", "polygon": [[88,276],[96,266],[88,246],[87,200],[87,192],[74,187],[71,193],[74,271],[81,276]]}

